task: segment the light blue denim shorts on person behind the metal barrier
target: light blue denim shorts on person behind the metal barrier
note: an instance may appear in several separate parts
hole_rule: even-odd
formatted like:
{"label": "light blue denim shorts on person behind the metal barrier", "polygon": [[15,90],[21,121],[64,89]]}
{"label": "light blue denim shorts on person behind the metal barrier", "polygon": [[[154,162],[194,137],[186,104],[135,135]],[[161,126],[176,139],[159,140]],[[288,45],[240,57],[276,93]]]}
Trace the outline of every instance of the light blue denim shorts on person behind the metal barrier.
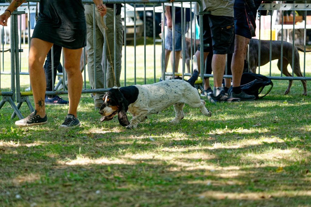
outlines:
{"label": "light blue denim shorts on person behind the metal barrier", "polygon": [[[165,49],[173,51],[172,29],[165,28]],[[175,23],[175,51],[181,51],[181,23]]]}

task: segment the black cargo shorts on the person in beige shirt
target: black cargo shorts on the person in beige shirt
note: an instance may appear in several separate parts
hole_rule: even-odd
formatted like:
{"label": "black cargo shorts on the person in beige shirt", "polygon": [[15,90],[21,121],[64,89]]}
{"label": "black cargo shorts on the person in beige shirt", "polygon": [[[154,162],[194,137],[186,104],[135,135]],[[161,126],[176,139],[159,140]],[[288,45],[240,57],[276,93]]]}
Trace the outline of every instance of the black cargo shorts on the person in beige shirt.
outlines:
{"label": "black cargo shorts on the person in beige shirt", "polygon": [[[199,23],[199,16],[197,16]],[[234,19],[230,16],[203,15],[203,52],[234,52]],[[209,44],[209,46],[208,46]],[[211,45],[212,44],[212,45]],[[211,47],[212,46],[212,47]],[[200,51],[200,47],[198,47]]]}

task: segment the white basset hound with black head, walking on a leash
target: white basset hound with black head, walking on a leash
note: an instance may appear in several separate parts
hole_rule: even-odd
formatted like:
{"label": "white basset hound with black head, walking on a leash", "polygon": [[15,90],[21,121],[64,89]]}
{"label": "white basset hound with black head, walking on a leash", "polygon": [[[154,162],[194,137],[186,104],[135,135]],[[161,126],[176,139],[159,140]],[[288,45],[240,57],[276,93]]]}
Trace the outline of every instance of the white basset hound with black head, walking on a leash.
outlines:
{"label": "white basset hound with black head, walking on a leash", "polygon": [[[157,114],[161,110],[174,106],[176,116],[171,123],[178,123],[184,117],[183,106],[188,104],[200,108],[202,114],[211,116],[205,108],[205,101],[200,98],[194,87],[199,71],[197,58],[193,56],[193,75],[189,80],[165,80],[146,85],[134,85],[122,88],[111,88],[103,97],[99,113],[100,121],[109,121],[118,114],[119,123],[128,129],[136,128],[137,124],[146,120],[147,115]],[[132,114],[129,122],[126,112]]]}

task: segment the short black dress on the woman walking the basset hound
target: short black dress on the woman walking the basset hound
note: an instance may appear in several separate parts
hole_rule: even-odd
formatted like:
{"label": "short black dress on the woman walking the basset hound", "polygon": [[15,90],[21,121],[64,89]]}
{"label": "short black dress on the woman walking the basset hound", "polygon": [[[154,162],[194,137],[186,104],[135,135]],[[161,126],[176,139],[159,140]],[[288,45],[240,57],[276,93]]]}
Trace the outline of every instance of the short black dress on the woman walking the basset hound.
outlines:
{"label": "short black dress on the woman walking the basset hound", "polygon": [[32,38],[68,49],[86,46],[86,21],[81,0],[41,0]]}

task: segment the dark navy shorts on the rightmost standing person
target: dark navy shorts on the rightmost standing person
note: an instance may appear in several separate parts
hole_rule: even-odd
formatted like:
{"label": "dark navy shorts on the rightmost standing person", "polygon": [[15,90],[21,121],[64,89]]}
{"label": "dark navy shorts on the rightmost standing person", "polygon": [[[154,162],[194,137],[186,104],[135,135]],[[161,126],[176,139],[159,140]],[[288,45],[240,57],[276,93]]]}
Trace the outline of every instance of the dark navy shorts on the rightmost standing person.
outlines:
{"label": "dark navy shorts on the rightmost standing person", "polygon": [[[254,0],[256,8],[254,10],[257,11],[261,0]],[[235,34],[238,34],[242,37],[246,37],[251,39],[255,36],[256,30],[256,13],[253,14],[251,10],[245,3],[245,0],[235,0],[234,1],[234,26],[235,26]]]}

